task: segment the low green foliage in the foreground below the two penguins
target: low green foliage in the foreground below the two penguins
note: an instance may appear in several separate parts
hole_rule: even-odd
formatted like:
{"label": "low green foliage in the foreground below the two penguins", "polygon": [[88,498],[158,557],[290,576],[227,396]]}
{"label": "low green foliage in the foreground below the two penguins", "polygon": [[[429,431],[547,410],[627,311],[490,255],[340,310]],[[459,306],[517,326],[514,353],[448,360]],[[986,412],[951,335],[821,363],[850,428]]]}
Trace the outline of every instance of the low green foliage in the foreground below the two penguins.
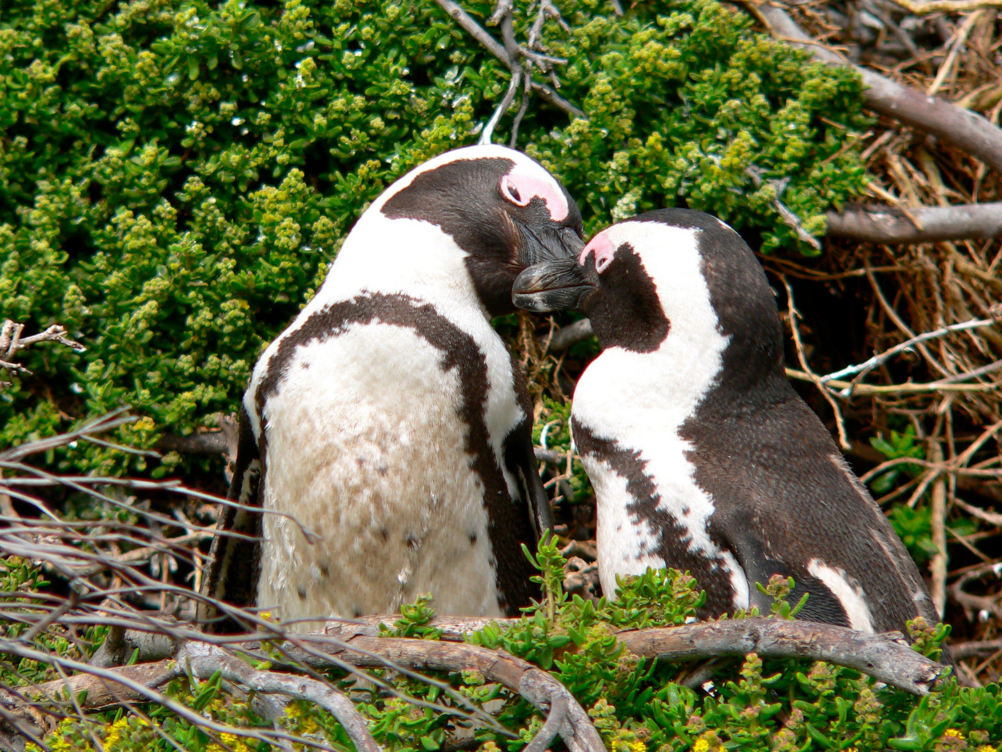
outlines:
{"label": "low green foliage in the foreground below the two penguins", "polygon": [[[689,689],[678,682],[692,666],[637,658],[625,652],[614,631],[670,627],[692,619],[703,595],[687,575],[654,572],[627,578],[614,600],[596,606],[560,590],[563,558],[555,544],[543,544],[534,557],[546,597],[519,623],[496,624],[469,640],[509,653],[547,669],[588,709],[610,752],[794,752],[795,750],[907,750],[909,752],[996,752],[990,740],[1002,737],[1002,704],[998,687],[962,689],[952,679],[917,701],[913,696],[860,673],[822,662],[745,659],[717,660],[709,683]],[[791,616],[785,598],[790,584],[775,578],[766,588],[775,599],[771,618]],[[427,627],[433,611],[427,600],[405,610],[395,634],[437,639]],[[735,618],[743,618],[738,614]],[[753,612],[747,616],[758,616]],[[936,656],[949,630],[933,629],[921,620],[910,624],[917,650]],[[354,680],[331,674],[351,689]],[[444,702],[440,686],[394,675],[397,690],[428,702]],[[477,705],[492,701],[492,714],[517,733],[506,737],[478,729],[481,752],[518,752],[539,731],[543,719],[525,700],[475,671],[443,676]],[[266,722],[245,702],[222,694],[217,679],[178,680],[168,692],[207,718],[237,727]],[[450,716],[417,708],[406,701],[356,688],[359,710],[370,720],[376,740],[388,752],[436,752],[446,741]],[[93,752],[91,733],[105,752],[170,750],[176,742],[190,752],[220,752],[203,731],[169,712],[154,708],[150,721],[120,711],[95,719],[90,729],[64,722],[47,739],[53,749]],[[150,727],[150,722],[157,729]],[[301,702],[286,711],[287,730],[312,735],[335,749],[350,750],[341,726],[329,714]],[[269,745],[238,736],[223,741],[234,752]]]}

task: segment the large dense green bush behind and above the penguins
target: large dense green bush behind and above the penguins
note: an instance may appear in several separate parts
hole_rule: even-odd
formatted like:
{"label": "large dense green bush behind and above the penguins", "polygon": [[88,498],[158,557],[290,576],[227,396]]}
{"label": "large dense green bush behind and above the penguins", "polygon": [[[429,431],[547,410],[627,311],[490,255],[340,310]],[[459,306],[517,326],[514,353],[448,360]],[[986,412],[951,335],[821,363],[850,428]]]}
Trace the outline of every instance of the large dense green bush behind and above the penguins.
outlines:
{"label": "large dense green bush behind and above the penguins", "polygon": [[[524,39],[534,14],[516,6]],[[769,178],[816,234],[861,189],[853,74],[716,0],[652,0],[622,18],[598,0],[561,9],[570,32],[549,20],[543,36],[588,119],[535,100],[518,144],[564,180],[590,231],[684,202],[760,232],[767,251],[795,248]],[[89,349],[35,350],[26,365],[45,386],[0,395],[0,443],[123,402],[147,419],[122,438],[146,444],[232,411],[367,203],[474,142],[507,82],[433,0],[5,2],[0,318],[61,323]],[[125,461],[80,446],[64,464]]]}

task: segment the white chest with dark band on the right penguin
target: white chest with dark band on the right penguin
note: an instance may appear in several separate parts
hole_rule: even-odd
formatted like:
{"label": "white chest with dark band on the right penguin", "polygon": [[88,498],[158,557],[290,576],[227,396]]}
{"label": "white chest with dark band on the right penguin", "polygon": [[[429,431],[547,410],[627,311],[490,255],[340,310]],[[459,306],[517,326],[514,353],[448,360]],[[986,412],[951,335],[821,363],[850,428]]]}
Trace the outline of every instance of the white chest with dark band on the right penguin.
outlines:
{"label": "white chest with dark band on the right penguin", "polygon": [[[734,555],[710,537],[713,498],[695,482],[695,466],[688,459],[693,447],[679,435],[700,393],[691,384],[661,389],[641,386],[650,378],[649,359],[607,350],[592,362],[574,391],[575,423],[595,436],[614,440],[618,458],[601,452],[589,455],[582,449],[581,459],[597,500],[602,591],[611,594],[616,576],[639,575],[647,567],[686,569],[684,561],[665,555],[680,545],[686,555],[709,562],[713,570],[721,568],[729,579],[735,606],[745,608],[746,578]],[[631,383],[634,380],[639,384]],[[654,513],[640,511],[647,500],[651,502],[648,510],[670,520],[670,527],[656,521]],[[665,536],[675,540],[665,545]]]}

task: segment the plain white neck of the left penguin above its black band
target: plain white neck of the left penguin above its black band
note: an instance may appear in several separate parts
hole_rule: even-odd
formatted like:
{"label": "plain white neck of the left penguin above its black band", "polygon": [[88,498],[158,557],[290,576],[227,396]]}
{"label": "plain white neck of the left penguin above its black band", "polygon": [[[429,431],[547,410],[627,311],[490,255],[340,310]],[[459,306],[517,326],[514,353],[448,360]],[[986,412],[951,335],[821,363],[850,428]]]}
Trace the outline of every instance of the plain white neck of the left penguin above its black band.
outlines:
{"label": "plain white neck of the left penguin above its black band", "polygon": [[467,257],[431,223],[391,220],[370,209],[345,240],[307,309],[320,310],[358,295],[381,293],[431,303],[446,317],[476,316],[489,321],[470,278]]}

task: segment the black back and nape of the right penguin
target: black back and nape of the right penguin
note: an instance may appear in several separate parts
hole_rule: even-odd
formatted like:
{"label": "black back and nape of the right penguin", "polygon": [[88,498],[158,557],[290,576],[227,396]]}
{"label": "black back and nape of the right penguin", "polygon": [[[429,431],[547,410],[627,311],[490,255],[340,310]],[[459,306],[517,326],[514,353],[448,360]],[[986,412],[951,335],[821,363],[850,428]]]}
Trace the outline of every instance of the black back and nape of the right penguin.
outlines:
{"label": "black back and nape of the right penguin", "polygon": [[[732,230],[698,212],[661,210],[628,222],[698,231],[702,275],[718,329],[729,339],[715,383],[679,430],[693,446],[688,459],[695,481],[713,499],[710,537],[734,553],[752,584],[793,576],[794,598],[811,593],[802,618],[849,625],[840,602],[808,572],[817,558],[859,584],[878,632],[904,631],[905,622],[919,615],[938,621],[900,538],[790,385],[776,298],[752,250]],[[602,284],[596,298],[605,296],[611,280]],[[596,303],[589,302],[585,312],[601,338],[605,322]],[[618,327],[624,329],[621,319]],[[644,337],[633,346],[617,344],[651,349]],[[709,585],[706,611],[730,610],[722,579]],[[768,610],[770,599],[754,585],[750,598]]]}

